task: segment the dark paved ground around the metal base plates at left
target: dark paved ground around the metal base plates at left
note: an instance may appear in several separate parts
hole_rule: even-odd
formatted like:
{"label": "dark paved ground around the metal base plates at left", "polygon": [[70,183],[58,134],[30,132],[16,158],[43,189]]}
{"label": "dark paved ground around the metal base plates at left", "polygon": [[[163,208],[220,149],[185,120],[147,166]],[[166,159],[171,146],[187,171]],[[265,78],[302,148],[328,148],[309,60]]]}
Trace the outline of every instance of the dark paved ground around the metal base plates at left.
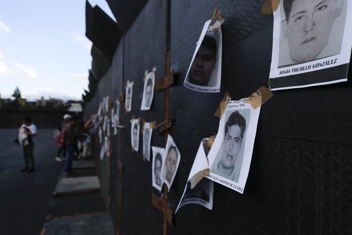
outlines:
{"label": "dark paved ground around the metal base plates at left", "polygon": [[[0,235],[39,235],[46,215],[66,216],[106,210],[100,192],[53,197],[63,162],[57,162],[52,129],[39,129],[34,148],[35,172],[20,173],[22,147],[15,129],[0,129]],[[93,172],[92,172],[93,171]],[[78,175],[93,175],[95,170]]]}

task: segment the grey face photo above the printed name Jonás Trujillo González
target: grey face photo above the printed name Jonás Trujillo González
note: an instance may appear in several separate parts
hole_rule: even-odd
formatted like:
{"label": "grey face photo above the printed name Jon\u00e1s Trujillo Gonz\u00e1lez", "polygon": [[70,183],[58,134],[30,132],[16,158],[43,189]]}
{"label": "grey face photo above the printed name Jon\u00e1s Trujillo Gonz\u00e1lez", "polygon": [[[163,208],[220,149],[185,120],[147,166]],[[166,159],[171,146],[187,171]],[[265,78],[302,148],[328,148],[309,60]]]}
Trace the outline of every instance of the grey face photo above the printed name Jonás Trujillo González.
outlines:
{"label": "grey face photo above the printed name Jon\u00e1s Trujillo Gonz\u00e1lez", "polygon": [[[344,20],[341,17],[344,1],[283,0],[279,67],[340,53],[344,23],[335,21]],[[340,27],[337,32],[342,34],[331,34],[334,27]]]}

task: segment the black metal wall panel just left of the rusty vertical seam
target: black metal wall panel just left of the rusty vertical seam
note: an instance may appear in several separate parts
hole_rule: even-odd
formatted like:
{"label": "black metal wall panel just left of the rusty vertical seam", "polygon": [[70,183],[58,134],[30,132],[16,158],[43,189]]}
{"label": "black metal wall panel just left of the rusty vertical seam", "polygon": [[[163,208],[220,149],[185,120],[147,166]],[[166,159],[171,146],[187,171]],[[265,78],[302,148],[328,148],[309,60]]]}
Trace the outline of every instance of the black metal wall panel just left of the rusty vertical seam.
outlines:
{"label": "black metal wall panel just left of the rusty vertical seam", "polygon": [[[131,149],[132,115],[146,122],[165,120],[165,91],[155,91],[149,111],[141,111],[145,70],[156,66],[155,78],[165,76],[166,67],[166,2],[149,1],[124,37],[123,82],[133,81],[132,111],[122,116],[123,177],[121,202],[121,234],[153,234],[163,230],[162,214],[151,205],[152,163],[142,159],[142,134],[139,151]],[[140,128],[141,130],[141,128]],[[164,135],[153,133],[152,146],[164,146]],[[141,213],[143,212],[143,213]],[[160,218],[159,220],[157,218]]]}

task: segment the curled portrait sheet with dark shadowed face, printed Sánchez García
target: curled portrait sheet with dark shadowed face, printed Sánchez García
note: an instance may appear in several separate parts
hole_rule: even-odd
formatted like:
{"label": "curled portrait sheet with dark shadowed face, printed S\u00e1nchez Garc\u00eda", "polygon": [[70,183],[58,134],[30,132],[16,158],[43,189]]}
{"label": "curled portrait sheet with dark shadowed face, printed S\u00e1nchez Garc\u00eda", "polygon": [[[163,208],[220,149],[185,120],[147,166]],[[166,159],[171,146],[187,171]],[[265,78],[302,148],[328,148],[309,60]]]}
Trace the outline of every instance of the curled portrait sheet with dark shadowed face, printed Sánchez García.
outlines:
{"label": "curled portrait sheet with dark shadowed face, printed S\u00e1nchez Garc\u00eda", "polygon": [[208,20],[200,33],[184,85],[201,92],[219,92],[221,83],[221,23],[213,31]]}

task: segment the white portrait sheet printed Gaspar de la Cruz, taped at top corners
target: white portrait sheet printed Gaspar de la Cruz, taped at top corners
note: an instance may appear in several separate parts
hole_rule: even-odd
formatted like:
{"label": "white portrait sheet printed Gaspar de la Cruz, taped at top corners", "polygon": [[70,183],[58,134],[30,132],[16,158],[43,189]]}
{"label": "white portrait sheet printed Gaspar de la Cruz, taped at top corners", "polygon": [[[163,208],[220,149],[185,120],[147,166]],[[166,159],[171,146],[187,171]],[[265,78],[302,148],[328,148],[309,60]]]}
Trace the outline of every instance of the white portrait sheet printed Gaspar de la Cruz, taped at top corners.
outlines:
{"label": "white portrait sheet printed Gaspar de la Cruz, taped at top corners", "polygon": [[[261,101],[261,97],[248,99]],[[247,180],[260,113],[260,107],[253,109],[248,99],[227,102],[208,154],[207,177],[240,193]]]}

